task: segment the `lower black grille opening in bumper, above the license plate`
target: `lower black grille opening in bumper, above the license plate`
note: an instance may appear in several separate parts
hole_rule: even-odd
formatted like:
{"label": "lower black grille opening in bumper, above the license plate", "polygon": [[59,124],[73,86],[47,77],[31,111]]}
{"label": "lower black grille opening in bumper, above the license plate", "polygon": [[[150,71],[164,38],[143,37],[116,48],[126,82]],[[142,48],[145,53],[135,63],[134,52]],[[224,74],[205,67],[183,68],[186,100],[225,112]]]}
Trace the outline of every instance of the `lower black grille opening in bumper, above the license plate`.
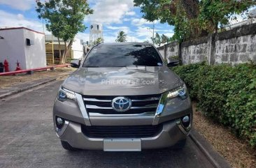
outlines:
{"label": "lower black grille opening in bumper, above the license plate", "polygon": [[125,126],[86,126],[81,125],[82,132],[92,138],[142,138],[155,137],[162,131],[160,125],[125,125]]}

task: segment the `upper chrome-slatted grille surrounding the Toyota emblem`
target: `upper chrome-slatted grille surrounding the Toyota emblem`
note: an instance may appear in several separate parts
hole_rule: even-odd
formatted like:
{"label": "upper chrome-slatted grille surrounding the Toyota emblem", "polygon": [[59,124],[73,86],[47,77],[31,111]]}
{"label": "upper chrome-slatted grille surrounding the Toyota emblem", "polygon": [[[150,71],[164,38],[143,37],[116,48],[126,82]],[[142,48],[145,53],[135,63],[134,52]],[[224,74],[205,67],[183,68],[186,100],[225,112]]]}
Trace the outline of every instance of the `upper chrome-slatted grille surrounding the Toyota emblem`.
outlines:
{"label": "upper chrome-slatted grille surrounding the Toyota emblem", "polygon": [[90,116],[95,114],[155,114],[161,94],[143,96],[124,96],[131,99],[131,108],[126,112],[116,112],[112,100],[119,96],[83,96],[85,107]]}

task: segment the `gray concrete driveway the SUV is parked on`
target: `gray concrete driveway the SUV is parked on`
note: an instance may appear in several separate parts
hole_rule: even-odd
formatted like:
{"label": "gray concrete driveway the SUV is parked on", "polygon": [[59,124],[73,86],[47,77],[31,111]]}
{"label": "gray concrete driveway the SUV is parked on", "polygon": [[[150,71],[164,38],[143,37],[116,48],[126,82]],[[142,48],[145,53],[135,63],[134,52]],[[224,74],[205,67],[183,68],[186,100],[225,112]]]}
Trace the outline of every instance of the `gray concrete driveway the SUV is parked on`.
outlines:
{"label": "gray concrete driveway the SUV is parked on", "polygon": [[53,82],[0,102],[0,167],[213,167],[190,138],[179,151],[65,151],[52,123],[60,84]]}

